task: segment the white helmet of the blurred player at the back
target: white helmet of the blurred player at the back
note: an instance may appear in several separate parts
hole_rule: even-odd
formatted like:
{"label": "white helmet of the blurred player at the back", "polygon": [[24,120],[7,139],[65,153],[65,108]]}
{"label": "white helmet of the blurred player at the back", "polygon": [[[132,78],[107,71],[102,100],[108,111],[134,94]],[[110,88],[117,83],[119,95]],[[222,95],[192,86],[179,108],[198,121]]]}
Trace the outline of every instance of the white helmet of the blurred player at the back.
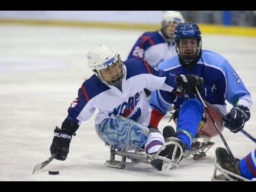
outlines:
{"label": "white helmet of the blurred player at the back", "polygon": [[[179,11],[165,11],[165,12],[163,12],[162,17],[163,17],[163,19],[162,19],[161,31],[162,31],[164,37],[166,38],[166,42],[171,43],[174,38],[173,34],[174,34],[176,25],[178,25],[181,22],[185,22],[185,20]],[[167,25],[169,25],[169,23],[171,23],[171,25],[173,25],[175,23],[176,25],[173,25],[170,28],[170,26],[167,27]]]}

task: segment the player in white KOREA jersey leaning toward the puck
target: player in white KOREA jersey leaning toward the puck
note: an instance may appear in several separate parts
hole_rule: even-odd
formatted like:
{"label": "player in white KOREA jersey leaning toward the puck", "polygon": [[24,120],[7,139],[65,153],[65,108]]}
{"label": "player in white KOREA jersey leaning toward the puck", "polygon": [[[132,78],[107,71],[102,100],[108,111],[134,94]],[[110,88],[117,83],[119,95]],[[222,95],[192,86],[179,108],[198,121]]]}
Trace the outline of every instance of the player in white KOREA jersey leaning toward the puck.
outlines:
{"label": "player in white KOREA jersey leaning toward the puck", "polygon": [[[68,108],[68,116],[61,128],[57,126],[54,130],[50,151],[51,154],[59,151],[55,158],[61,161],[67,158],[71,138],[79,125],[87,121],[96,109],[99,113],[95,117],[95,129],[102,141],[121,150],[131,144],[134,149],[142,148],[147,154],[155,154],[165,140],[157,129],[148,129],[150,106],[143,90],[160,89],[183,94],[195,92],[195,86],[203,83],[203,78],[195,75],[172,76],[154,69],[145,60],[122,61],[119,54],[107,45],[90,51],[87,59],[94,75],[78,90],[78,97]],[[173,151],[174,147],[168,145],[159,155],[172,158]],[[158,160],[150,163],[162,170],[163,161]]]}

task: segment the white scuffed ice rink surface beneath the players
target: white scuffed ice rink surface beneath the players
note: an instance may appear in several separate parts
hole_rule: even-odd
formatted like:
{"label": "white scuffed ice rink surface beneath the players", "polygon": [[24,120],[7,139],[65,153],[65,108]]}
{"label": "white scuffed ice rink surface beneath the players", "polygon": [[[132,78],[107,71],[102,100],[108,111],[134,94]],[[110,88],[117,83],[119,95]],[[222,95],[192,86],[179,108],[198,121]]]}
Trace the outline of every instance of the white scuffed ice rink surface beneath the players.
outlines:
{"label": "white scuffed ice rink surface beneath the players", "polygon": [[[96,113],[79,127],[66,161],[54,159],[32,174],[36,164],[51,156],[55,126],[61,126],[66,118],[84,79],[93,75],[87,67],[87,52],[99,44],[108,44],[125,60],[142,32],[0,25],[0,181],[211,181],[215,148],[225,148],[219,135],[212,138],[215,145],[205,158],[195,161],[189,156],[180,162],[179,169],[161,172],[148,164],[114,169],[104,164],[110,153],[95,132]],[[202,36],[203,49],[225,56],[251,92],[254,103],[244,130],[256,137],[256,38]],[[173,125],[168,123],[170,117],[167,114],[162,119],[159,130],[167,124]],[[225,129],[222,134],[237,158],[256,147],[242,133]],[[49,175],[48,171],[60,174]]]}

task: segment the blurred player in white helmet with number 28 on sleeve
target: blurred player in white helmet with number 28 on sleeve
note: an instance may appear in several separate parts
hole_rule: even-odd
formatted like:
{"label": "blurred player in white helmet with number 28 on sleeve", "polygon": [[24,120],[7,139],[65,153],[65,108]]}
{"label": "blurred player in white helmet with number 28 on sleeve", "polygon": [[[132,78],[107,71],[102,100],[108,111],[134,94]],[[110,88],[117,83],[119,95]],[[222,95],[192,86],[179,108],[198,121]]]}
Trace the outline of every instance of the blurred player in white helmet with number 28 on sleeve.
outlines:
{"label": "blurred player in white helmet with number 28 on sleeve", "polygon": [[[175,52],[173,33],[180,22],[185,22],[179,11],[165,11],[162,14],[161,29],[146,31],[133,45],[127,59],[140,58],[146,60],[151,67],[156,68],[158,63],[171,57]],[[149,90],[145,90],[147,97]]]}

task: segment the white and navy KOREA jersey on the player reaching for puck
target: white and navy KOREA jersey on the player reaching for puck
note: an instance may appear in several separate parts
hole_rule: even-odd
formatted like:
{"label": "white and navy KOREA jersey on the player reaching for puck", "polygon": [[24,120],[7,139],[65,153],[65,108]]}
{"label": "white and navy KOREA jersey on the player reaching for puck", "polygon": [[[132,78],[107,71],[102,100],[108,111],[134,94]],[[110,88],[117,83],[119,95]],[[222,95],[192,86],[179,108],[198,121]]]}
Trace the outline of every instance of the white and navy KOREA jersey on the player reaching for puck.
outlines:
{"label": "white and navy KOREA jersey on the player reaching for puck", "polygon": [[103,84],[93,75],[78,90],[78,97],[71,103],[66,119],[79,125],[98,108],[95,124],[100,124],[105,118],[124,116],[148,126],[151,110],[143,89],[172,91],[177,80],[165,71],[150,67],[145,60],[129,59],[123,63],[126,73],[122,91]]}

